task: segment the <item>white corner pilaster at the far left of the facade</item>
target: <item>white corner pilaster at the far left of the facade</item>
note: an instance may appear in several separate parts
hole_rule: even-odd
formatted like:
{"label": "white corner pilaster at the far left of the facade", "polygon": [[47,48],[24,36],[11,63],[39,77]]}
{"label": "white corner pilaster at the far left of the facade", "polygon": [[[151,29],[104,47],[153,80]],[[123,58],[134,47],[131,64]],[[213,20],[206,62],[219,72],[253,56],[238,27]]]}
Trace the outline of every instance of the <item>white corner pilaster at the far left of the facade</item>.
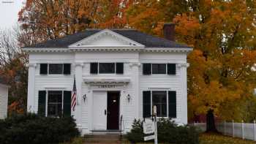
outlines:
{"label": "white corner pilaster at the far left of the facade", "polygon": [[29,78],[28,78],[28,101],[27,101],[27,112],[35,113],[36,107],[35,104],[35,71],[36,71],[37,64],[29,64]]}

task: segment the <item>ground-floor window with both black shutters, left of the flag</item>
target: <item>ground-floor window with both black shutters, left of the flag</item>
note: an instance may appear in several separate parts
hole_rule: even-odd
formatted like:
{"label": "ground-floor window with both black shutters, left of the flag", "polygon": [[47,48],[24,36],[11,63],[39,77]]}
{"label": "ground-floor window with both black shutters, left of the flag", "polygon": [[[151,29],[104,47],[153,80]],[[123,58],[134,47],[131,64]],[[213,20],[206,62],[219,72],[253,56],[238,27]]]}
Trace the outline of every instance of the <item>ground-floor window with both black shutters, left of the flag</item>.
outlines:
{"label": "ground-floor window with both black shutters, left of the flag", "polygon": [[42,116],[70,116],[71,91],[39,91],[37,113]]}

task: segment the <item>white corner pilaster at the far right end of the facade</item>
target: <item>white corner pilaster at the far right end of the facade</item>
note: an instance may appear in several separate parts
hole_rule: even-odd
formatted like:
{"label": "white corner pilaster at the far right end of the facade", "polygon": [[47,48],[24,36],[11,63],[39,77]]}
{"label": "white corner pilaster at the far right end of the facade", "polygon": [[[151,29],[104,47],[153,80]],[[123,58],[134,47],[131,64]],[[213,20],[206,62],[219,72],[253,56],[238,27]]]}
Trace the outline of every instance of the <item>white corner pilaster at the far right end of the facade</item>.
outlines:
{"label": "white corner pilaster at the far right end of the facade", "polygon": [[[187,67],[189,65],[185,64],[178,64],[180,75],[181,75],[181,123],[187,124]],[[178,107],[177,107],[178,112]],[[178,116],[178,115],[177,115]]]}

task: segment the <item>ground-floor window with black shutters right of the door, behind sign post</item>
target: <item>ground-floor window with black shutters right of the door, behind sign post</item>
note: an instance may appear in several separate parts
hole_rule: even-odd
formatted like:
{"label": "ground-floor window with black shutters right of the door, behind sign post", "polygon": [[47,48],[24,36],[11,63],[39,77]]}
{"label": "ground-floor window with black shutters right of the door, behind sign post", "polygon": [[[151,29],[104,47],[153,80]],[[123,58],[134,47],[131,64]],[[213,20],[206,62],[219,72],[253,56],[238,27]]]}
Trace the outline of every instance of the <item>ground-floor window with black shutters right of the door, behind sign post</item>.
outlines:
{"label": "ground-floor window with black shutters right of the door, behind sign post", "polygon": [[176,91],[143,91],[143,117],[152,115],[157,106],[157,117],[176,118]]}

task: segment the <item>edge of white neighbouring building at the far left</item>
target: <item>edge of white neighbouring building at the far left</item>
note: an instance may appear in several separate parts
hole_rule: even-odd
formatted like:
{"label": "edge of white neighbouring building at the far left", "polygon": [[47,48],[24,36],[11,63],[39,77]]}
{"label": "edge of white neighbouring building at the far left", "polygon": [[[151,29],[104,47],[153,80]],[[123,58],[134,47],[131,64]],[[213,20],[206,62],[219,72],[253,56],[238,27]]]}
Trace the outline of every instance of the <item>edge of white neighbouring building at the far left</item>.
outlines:
{"label": "edge of white neighbouring building at the far left", "polygon": [[8,88],[9,86],[0,78],[0,119],[7,118]]}

